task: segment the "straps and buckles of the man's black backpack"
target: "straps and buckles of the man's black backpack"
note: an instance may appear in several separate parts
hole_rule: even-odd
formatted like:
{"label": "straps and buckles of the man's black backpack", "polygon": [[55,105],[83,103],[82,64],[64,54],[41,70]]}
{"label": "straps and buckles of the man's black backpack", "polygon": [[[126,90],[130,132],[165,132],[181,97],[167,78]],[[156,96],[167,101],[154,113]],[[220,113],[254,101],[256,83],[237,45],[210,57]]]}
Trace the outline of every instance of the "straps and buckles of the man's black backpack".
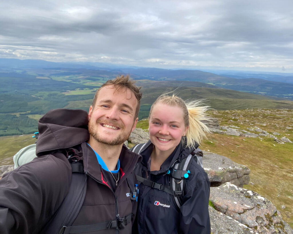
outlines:
{"label": "straps and buckles of the man's black backpack", "polygon": [[[35,145],[35,144],[34,144]],[[81,144],[84,153],[87,152],[86,143]],[[60,152],[60,151],[59,151]],[[76,219],[79,211],[84,203],[87,188],[87,175],[84,173],[84,164],[82,160],[79,160],[78,156],[75,156],[74,151],[71,149],[65,149],[60,153],[67,156],[67,159],[71,166],[72,176],[71,184],[67,195],[62,201],[61,205],[55,211],[54,215],[49,221],[42,227],[39,233],[42,234],[69,234],[80,232],[93,232],[104,229],[123,229],[125,225],[131,222],[132,214],[116,220],[110,220],[104,223],[96,223],[91,225],[72,226],[72,223]],[[25,152],[25,154],[28,154]],[[32,159],[30,159],[31,161]],[[28,161],[27,161],[28,162]],[[128,182],[127,179],[127,183]],[[137,201],[138,188],[134,185],[132,190],[131,200]],[[119,219],[118,219],[119,218]]]}

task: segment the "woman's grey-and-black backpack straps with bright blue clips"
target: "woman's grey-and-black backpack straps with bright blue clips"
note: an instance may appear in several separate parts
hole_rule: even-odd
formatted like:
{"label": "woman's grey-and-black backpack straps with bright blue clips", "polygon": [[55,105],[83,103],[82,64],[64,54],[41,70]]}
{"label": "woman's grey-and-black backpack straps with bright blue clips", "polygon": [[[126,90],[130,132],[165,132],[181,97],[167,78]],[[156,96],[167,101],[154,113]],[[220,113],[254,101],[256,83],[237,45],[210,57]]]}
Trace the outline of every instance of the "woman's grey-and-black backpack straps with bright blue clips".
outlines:
{"label": "woman's grey-and-black backpack straps with bright blue clips", "polygon": [[[143,149],[145,149],[147,143],[145,144],[137,144],[135,147],[131,149],[132,152],[140,154]],[[200,149],[195,149],[193,152],[191,152],[186,158],[184,158],[181,161],[176,161],[171,168],[167,171],[167,174],[171,176],[170,185],[171,188],[166,187],[165,185],[156,183],[151,180],[147,180],[141,176],[136,175],[136,178],[139,182],[143,183],[146,186],[163,190],[164,192],[167,192],[171,195],[173,195],[173,198],[175,200],[175,203],[177,204],[178,208],[180,209],[183,197],[184,197],[184,188],[186,179],[189,177],[190,171],[190,164],[192,160],[195,160],[197,164],[199,164],[201,167],[202,165],[202,151]]]}

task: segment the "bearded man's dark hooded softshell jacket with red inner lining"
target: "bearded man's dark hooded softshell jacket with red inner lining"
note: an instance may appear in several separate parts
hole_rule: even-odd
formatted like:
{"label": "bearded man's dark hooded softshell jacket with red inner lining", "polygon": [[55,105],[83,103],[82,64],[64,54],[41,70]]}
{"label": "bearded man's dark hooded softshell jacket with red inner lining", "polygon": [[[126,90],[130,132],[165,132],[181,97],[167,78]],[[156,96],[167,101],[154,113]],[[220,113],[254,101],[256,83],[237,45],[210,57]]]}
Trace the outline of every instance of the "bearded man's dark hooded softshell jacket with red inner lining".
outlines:
{"label": "bearded man's dark hooded softshell jacket with red inner lining", "polygon": [[[82,110],[49,111],[39,121],[39,156],[6,174],[0,180],[0,233],[40,233],[67,195],[71,166],[59,149],[72,148],[83,160],[88,175],[84,203],[73,225],[88,225],[115,220],[136,212],[137,202],[129,193],[135,183],[133,169],[140,156],[123,146],[120,168],[123,176],[115,193],[103,182],[96,155],[80,144],[88,140],[88,114]],[[119,211],[118,211],[119,210]],[[134,216],[133,216],[134,218]],[[115,229],[92,233],[118,233]],[[119,233],[131,233],[131,223]]]}

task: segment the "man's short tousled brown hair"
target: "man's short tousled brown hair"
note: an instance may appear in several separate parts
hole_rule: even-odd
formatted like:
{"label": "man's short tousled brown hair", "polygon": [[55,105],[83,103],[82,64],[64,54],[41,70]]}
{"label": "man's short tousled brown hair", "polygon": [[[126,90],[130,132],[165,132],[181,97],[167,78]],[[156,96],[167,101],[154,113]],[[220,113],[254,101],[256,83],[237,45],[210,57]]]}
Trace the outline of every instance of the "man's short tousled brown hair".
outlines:
{"label": "man's short tousled brown hair", "polygon": [[96,105],[97,97],[99,94],[99,91],[101,88],[109,85],[113,85],[116,91],[119,91],[120,89],[130,89],[132,94],[134,94],[136,100],[137,100],[137,107],[135,110],[135,118],[138,117],[139,107],[140,107],[140,99],[142,99],[142,93],[140,92],[141,87],[137,87],[134,85],[135,81],[131,80],[129,75],[118,75],[114,80],[107,80],[96,92],[95,97],[93,98],[92,106],[93,108]]}

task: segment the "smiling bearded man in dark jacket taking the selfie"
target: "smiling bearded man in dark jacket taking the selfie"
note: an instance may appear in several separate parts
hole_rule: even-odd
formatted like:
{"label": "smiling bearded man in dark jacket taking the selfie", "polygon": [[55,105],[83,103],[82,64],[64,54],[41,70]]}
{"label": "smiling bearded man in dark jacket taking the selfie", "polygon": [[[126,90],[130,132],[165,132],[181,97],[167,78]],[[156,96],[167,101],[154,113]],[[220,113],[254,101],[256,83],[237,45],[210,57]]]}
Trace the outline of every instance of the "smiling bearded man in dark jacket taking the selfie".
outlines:
{"label": "smiling bearded man in dark jacket taking the selfie", "polygon": [[57,233],[131,233],[133,169],[141,159],[123,142],[137,124],[139,89],[122,75],[102,85],[88,114],[57,109],[39,120],[38,158],[0,180],[1,234],[52,233],[50,220],[75,183],[72,161],[83,162],[86,194],[72,226]]}

